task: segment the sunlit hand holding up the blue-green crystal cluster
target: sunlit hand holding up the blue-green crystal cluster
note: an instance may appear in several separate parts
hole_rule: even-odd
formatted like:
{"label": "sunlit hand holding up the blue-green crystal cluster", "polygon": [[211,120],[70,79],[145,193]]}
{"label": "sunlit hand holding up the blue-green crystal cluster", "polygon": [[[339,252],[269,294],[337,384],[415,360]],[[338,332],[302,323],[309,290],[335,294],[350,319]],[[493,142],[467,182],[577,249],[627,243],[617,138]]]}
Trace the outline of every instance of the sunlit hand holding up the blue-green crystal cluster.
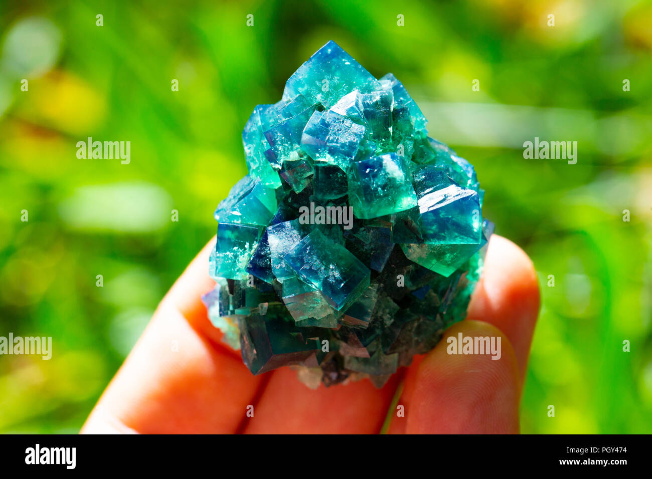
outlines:
{"label": "sunlit hand holding up the blue-green crystal cluster", "polygon": [[381,389],[364,379],[317,390],[289,368],[252,375],[220,341],[201,302],[214,244],[160,302],[82,433],[378,433],[400,384],[404,416],[391,411],[389,433],[518,433],[539,285],[511,241],[492,237],[467,318],[444,334],[501,336],[499,360],[449,355],[443,340]]}

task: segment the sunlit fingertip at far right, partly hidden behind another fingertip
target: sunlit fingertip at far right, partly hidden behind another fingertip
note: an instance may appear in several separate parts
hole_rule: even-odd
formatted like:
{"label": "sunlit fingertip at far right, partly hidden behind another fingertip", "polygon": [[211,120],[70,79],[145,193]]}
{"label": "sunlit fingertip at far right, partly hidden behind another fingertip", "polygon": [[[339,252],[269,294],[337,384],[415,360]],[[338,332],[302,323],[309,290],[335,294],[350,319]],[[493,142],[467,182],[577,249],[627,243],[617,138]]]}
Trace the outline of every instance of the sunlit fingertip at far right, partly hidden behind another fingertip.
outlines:
{"label": "sunlit fingertip at far right, partly hidden behind another fingertip", "polygon": [[532,261],[516,244],[493,235],[467,319],[485,321],[505,333],[514,347],[521,381],[538,316],[539,282]]}

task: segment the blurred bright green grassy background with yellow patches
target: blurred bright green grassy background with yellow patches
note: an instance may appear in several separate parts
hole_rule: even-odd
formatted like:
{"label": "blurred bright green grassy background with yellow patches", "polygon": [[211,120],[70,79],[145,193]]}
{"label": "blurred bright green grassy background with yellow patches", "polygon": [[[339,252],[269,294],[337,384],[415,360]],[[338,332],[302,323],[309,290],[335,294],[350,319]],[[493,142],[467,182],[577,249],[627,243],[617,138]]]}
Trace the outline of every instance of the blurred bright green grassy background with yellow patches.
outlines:
{"label": "blurred bright green grassy background with yellow patches", "polygon": [[[0,356],[0,431],[78,431],[215,233],[252,109],[333,39],[406,85],[533,258],[522,431],[652,432],[651,25],[634,0],[0,1],[0,336],[53,336]],[[89,136],[130,164],[78,159]],[[535,136],[577,164],[524,159]]]}

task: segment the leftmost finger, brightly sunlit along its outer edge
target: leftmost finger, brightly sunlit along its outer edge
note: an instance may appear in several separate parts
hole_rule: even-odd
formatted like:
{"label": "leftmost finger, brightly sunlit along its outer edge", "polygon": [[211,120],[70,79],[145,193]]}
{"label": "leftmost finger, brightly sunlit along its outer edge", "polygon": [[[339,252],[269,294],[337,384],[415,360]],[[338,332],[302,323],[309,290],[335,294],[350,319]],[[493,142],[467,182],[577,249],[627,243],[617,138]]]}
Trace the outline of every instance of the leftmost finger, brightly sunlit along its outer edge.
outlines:
{"label": "leftmost finger, brightly sunlit along its outer edge", "polygon": [[[82,432],[133,429],[140,433],[233,433],[264,376],[239,356],[216,347],[202,328],[207,249],[161,302],[140,340],[91,413]],[[203,265],[201,265],[203,263]],[[208,287],[207,287],[208,286]]]}

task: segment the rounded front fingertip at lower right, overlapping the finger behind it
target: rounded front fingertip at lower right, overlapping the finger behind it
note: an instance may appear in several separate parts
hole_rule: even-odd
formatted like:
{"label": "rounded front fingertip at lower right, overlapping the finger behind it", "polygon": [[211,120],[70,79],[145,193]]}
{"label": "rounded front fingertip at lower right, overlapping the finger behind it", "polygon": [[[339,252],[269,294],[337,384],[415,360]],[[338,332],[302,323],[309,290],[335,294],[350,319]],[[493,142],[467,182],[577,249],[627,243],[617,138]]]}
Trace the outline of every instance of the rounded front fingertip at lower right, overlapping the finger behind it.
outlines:
{"label": "rounded front fingertip at lower right, overlapping the finger behind it", "polygon": [[[500,358],[491,355],[449,354],[447,338],[500,338]],[[391,432],[518,433],[520,385],[518,365],[507,336],[481,321],[462,321],[406,379],[411,390],[402,397],[404,418],[395,418]],[[409,384],[408,384],[409,383]]]}

